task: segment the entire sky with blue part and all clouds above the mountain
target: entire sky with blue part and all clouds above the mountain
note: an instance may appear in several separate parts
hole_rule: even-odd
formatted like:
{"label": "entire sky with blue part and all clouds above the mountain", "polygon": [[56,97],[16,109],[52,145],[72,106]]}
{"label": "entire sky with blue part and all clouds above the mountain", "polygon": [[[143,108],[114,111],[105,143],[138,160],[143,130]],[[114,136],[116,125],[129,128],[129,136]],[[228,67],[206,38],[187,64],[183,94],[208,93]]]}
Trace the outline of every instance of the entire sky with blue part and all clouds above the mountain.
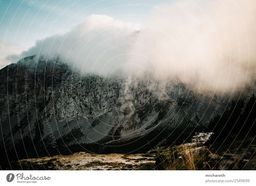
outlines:
{"label": "entire sky with blue part and all clouds above the mountain", "polygon": [[[0,0],[0,68],[37,54],[84,74],[204,89],[256,77],[255,0]],[[202,88],[203,87],[203,88]]]}

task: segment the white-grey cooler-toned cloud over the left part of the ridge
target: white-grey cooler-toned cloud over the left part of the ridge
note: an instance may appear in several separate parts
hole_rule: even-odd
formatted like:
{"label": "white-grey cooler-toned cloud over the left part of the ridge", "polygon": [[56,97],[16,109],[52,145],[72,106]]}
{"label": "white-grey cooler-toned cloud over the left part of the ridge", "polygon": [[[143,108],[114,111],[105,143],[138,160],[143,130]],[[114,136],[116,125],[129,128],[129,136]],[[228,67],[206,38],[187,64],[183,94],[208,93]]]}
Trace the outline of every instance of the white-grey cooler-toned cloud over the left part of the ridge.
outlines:
{"label": "white-grey cooler-toned cloud over the left part of the ridge", "polygon": [[[139,23],[122,22],[106,15],[91,15],[64,35],[52,35],[36,42],[21,58],[37,54],[55,60],[57,56],[83,73],[108,74],[123,63],[127,50],[123,44],[134,42]],[[115,58],[115,59],[112,59]],[[102,72],[101,72],[102,71]]]}

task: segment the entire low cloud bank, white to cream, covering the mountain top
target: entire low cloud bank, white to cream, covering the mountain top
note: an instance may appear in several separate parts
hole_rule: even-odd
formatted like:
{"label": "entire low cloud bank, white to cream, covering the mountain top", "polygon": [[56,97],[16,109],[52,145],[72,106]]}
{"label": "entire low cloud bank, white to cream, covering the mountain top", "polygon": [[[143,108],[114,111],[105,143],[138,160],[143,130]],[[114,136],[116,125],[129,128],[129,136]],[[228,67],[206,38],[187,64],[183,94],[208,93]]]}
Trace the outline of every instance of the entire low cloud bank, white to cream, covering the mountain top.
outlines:
{"label": "entire low cloud bank, white to cream, covering the mountain top", "polygon": [[85,74],[147,73],[197,87],[242,86],[256,74],[255,5],[175,1],[154,6],[143,25],[91,15],[64,35],[37,41],[21,57],[68,57]]}

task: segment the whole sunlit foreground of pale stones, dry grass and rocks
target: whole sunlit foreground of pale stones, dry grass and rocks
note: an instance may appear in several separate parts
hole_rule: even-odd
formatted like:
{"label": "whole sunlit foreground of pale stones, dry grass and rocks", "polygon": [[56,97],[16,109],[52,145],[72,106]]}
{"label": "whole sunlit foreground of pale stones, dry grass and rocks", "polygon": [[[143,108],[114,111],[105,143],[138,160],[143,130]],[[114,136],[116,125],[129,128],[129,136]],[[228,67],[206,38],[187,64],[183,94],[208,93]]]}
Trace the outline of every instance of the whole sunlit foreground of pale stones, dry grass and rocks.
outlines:
{"label": "whole sunlit foreground of pale stones, dry grass and rocks", "polygon": [[[221,156],[213,154],[205,142],[212,133],[196,133],[189,143],[155,146],[141,154],[70,155],[11,161],[14,170],[255,170],[256,146],[234,149]],[[9,168],[6,168],[9,169]]]}

